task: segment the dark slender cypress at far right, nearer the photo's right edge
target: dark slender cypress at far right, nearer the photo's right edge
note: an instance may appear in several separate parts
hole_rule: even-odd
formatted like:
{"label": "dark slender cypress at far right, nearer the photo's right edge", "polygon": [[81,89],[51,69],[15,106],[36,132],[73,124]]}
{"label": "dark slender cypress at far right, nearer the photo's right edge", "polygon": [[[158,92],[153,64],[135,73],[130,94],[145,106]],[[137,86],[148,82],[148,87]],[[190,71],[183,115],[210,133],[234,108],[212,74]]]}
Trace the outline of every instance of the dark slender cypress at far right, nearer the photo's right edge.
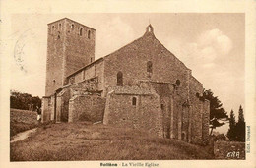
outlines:
{"label": "dark slender cypress at far right, nearer the photo's right edge", "polygon": [[236,140],[245,142],[245,122],[244,122],[244,116],[243,116],[243,109],[241,105],[239,107],[238,122],[235,126],[235,132],[236,132]]}

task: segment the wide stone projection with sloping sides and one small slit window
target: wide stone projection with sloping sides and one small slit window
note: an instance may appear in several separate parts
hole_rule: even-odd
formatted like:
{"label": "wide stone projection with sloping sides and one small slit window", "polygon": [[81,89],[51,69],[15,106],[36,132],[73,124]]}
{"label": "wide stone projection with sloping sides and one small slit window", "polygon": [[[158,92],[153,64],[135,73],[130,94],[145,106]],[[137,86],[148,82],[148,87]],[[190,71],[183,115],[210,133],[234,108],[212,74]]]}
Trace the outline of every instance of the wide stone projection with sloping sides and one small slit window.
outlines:
{"label": "wide stone projection with sloping sides and one small slit window", "polygon": [[[135,99],[135,104],[133,103]],[[109,91],[104,124],[143,129],[163,136],[160,97],[157,94],[128,94]]]}

